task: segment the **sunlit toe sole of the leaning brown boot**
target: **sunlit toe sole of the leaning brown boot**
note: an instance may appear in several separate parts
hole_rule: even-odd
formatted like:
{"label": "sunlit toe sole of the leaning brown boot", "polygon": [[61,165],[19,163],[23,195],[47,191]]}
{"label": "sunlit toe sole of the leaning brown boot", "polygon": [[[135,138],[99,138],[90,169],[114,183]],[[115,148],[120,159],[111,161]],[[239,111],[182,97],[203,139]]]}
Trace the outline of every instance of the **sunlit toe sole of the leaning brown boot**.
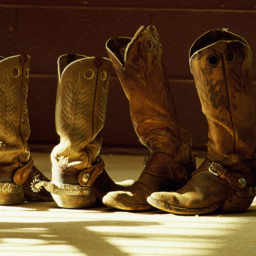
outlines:
{"label": "sunlit toe sole of the leaning brown boot", "polygon": [[126,211],[147,211],[153,209],[151,205],[134,205],[131,203],[127,203],[126,201],[120,198],[116,199],[115,197],[112,196],[104,196],[102,201],[103,204],[108,207]]}

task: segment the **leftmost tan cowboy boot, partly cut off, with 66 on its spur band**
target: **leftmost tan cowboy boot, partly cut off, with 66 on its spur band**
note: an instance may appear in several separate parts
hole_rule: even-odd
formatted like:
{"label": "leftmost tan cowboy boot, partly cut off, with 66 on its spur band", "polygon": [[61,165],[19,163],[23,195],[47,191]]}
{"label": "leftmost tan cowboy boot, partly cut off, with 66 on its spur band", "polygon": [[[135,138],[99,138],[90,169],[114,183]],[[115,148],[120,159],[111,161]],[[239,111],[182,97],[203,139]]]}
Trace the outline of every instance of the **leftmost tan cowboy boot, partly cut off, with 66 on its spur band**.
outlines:
{"label": "leftmost tan cowboy boot, partly cut off, with 66 on its spur band", "polygon": [[49,179],[33,165],[27,145],[29,65],[27,55],[0,57],[0,205],[53,201],[45,189],[30,188],[33,179]]}

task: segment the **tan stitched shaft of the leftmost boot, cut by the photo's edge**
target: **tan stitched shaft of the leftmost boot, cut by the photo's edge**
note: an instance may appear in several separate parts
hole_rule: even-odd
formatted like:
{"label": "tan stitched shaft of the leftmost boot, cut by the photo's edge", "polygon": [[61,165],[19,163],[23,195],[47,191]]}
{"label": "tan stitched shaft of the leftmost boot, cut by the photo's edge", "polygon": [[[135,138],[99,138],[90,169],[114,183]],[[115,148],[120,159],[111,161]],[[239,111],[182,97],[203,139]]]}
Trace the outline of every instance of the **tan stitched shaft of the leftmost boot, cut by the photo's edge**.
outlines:
{"label": "tan stitched shaft of the leftmost boot, cut by the photo's edge", "polygon": [[30,159],[26,101],[29,65],[27,55],[1,57],[0,60],[0,162],[2,167],[8,166],[9,171],[23,166]]}

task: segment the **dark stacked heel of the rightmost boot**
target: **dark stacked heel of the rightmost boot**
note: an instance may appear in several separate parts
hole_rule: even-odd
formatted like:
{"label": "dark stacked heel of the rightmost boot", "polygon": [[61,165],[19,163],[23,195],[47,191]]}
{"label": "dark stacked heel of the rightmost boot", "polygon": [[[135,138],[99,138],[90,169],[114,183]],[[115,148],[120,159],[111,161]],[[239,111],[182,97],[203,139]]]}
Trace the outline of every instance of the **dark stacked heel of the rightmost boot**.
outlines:
{"label": "dark stacked heel of the rightmost boot", "polygon": [[221,213],[238,213],[246,211],[252,204],[254,197],[241,197],[233,195],[220,207]]}

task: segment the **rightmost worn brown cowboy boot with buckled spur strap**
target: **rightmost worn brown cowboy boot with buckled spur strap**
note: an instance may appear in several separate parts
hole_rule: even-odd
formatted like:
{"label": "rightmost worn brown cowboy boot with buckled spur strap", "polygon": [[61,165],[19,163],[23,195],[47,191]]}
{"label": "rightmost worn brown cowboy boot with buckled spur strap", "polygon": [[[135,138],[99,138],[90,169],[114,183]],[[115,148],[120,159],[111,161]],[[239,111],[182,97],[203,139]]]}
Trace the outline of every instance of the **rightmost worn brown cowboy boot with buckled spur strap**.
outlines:
{"label": "rightmost worn brown cowboy boot with buckled spur strap", "polygon": [[242,212],[255,196],[255,106],[248,43],[210,30],[190,49],[190,67],[209,124],[208,155],[176,193],[153,193],[151,205],[177,214]]}

